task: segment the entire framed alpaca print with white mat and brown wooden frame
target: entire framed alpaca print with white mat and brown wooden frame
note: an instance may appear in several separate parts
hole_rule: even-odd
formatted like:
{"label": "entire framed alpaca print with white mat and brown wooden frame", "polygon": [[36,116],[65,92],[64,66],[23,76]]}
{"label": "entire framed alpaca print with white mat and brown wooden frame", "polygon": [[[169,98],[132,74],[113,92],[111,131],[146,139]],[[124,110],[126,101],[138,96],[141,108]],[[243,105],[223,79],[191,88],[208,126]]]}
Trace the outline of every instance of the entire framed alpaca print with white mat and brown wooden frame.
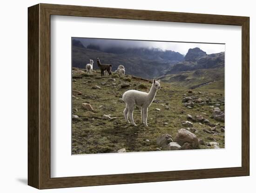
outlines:
{"label": "entire framed alpaca print with white mat and brown wooden frame", "polygon": [[28,185],[249,175],[249,18],[28,8]]}

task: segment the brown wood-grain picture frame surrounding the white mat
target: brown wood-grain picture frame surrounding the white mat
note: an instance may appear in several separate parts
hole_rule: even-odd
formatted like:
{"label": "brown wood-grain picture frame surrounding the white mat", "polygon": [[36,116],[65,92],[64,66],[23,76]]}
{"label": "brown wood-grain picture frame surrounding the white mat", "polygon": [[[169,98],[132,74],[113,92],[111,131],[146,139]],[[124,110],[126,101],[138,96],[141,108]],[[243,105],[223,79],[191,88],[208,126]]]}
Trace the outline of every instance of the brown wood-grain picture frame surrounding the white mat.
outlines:
{"label": "brown wood-grain picture frame surrounding the white mat", "polygon": [[[242,167],[51,178],[51,15],[242,26]],[[29,186],[47,189],[246,175],[249,175],[249,17],[52,4],[28,8]]]}

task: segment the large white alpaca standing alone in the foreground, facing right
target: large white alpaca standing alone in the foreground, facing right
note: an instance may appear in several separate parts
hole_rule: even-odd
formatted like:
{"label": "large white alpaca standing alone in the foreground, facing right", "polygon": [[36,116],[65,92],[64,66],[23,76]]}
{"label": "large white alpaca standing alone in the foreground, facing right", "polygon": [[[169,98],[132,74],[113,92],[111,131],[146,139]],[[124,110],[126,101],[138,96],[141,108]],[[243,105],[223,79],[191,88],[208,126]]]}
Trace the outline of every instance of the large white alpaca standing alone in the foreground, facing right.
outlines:
{"label": "large white alpaca standing alone in the foreground, facing right", "polygon": [[141,107],[141,121],[148,126],[148,107],[153,102],[156,92],[160,89],[160,80],[153,80],[153,84],[148,93],[138,90],[128,90],[123,94],[122,100],[126,103],[123,111],[125,120],[129,123],[128,117],[132,125],[136,126],[133,119],[133,111],[136,106]]}

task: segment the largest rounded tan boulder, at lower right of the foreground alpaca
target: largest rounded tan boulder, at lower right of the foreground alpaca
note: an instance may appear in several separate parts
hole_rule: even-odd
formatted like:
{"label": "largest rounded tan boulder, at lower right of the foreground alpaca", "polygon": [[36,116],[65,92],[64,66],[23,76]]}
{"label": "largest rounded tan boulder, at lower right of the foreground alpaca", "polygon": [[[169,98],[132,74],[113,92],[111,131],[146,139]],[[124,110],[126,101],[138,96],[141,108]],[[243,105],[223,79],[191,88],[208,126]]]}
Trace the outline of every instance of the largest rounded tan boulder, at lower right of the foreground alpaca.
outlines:
{"label": "largest rounded tan boulder, at lower right of the foreground alpaca", "polygon": [[175,142],[183,146],[184,143],[189,143],[191,149],[199,148],[198,138],[195,134],[191,133],[187,129],[180,129],[175,137]]}

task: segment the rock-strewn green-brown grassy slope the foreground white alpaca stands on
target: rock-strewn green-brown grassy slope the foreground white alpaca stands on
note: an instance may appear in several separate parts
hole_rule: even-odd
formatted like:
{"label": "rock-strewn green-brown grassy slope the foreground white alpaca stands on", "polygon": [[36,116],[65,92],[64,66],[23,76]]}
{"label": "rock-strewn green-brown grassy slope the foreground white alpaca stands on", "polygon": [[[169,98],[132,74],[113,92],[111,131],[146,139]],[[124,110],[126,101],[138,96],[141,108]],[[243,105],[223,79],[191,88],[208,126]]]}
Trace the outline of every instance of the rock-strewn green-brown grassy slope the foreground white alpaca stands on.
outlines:
{"label": "rock-strewn green-brown grassy slope the foreground white alpaca stands on", "polygon": [[[204,142],[216,141],[220,144],[220,148],[224,147],[224,133],[220,131],[224,123],[216,124],[218,121],[211,117],[212,109],[216,103],[220,104],[222,111],[224,110],[223,90],[211,92],[211,90],[197,88],[189,93],[187,89],[180,89],[184,87],[175,87],[169,83],[161,82],[162,88],[158,90],[155,101],[148,109],[149,126],[145,127],[141,124],[140,109],[135,109],[134,119],[138,126],[133,127],[124,120],[125,103],[120,98],[129,89],[148,92],[151,83],[146,79],[130,75],[122,78],[115,73],[113,74],[112,77],[101,77],[99,70],[94,70],[93,75],[74,73],[72,114],[78,117],[73,118],[72,122],[72,154],[115,153],[121,148],[126,148],[127,152],[161,150],[162,148],[157,145],[156,139],[162,134],[170,134],[174,138],[177,131],[184,128],[182,122],[187,120],[188,114],[192,116],[202,115],[212,124],[209,126],[194,122],[193,127],[197,130],[195,135],[198,138]],[[188,76],[192,75],[189,74]],[[122,89],[121,84],[129,84],[129,87]],[[143,88],[140,86],[141,84],[147,89],[140,89]],[[101,88],[93,89],[95,85]],[[192,98],[200,97],[202,100],[209,100],[210,102],[195,103],[193,109],[188,109],[182,104],[184,95]],[[82,103],[90,103],[94,112],[83,109]],[[116,118],[104,120],[103,115]],[[211,130],[214,126],[218,130],[216,134],[203,131],[203,129]],[[200,145],[200,148],[211,147]]]}

